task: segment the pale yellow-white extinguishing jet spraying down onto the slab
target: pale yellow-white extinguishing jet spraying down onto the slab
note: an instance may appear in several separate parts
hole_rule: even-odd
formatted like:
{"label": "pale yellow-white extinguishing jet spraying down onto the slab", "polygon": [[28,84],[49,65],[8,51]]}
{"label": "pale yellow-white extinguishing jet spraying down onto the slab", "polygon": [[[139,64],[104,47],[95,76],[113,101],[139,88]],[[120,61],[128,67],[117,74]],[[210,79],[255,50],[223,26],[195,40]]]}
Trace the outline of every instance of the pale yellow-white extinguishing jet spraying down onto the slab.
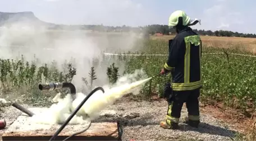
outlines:
{"label": "pale yellow-white extinguishing jet spraying down onto the slab", "polygon": [[[108,88],[107,86],[103,87],[105,93],[97,91],[90,96],[77,114],[71,119],[70,124],[88,123],[89,119],[83,119],[86,115],[89,115],[90,120],[96,119],[99,116],[100,111],[104,110],[107,106],[112,105],[113,102],[126,95],[126,93],[141,88],[140,86],[150,79],[151,78],[147,78],[133,83],[126,83],[113,88]],[[72,101],[72,97],[69,94],[57,104],[53,104],[47,111],[35,114],[32,117],[32,121],[39,124],[64,123],[67,117],[70,116],[71,111],[74,111],[85,97],[86,95],[84,95],[84,93],[76,93],[76,99]]]}

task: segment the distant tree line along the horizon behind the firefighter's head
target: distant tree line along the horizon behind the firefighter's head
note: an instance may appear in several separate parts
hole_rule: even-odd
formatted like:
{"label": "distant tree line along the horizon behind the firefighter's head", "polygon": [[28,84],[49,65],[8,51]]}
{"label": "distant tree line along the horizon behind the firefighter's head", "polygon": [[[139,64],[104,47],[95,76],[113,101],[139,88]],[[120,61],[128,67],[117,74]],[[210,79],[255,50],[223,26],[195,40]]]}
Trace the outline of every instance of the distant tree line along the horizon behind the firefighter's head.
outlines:
{"label": "distant tree line along the horizon behind the firefighter's head", "polygon": [[[104,26],[104,25],[56,25],[52,29],[82,29],[82,30],[92,30],[99,32],[139,32],[144,34],[154,35],[157,33],[163,35],[175,35],[175,30],[169,29],[168,25],[147,25],[147,26]],[[244,34],[239,32],[227,31],[227,30],[197,30],[194,29],[199,35],[208,36],[226,36],[226,37],[256,37],[256,34]]]}

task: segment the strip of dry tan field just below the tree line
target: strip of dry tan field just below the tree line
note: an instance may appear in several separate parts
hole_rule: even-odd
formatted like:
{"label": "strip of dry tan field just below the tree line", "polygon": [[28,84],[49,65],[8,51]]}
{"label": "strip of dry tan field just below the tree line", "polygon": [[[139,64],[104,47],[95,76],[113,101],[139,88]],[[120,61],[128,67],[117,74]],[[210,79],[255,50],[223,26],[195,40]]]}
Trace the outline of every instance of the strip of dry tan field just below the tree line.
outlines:
{"label": "strip of dry tan field just below the tree line", "polygon": [[[173,35],[151,36],[152,39],[170,40]],[[256,53],[256,38],[249,37],[217,37],[200,36],[204,46],[213,46],[218,48],[240,48]]]}

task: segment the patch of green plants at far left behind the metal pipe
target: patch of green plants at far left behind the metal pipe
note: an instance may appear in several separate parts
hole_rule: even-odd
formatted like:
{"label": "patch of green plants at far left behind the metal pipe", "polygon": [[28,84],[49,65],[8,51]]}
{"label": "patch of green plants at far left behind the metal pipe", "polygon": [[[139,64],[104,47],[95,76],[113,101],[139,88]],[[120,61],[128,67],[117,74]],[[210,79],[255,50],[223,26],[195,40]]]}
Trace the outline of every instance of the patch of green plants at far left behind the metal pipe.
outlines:
{"label": "patch of green plants at far left behind the metal pipe", "polygon": [[[76,68],[71,63],[64,63],[63,70],[57,69],[57,62],[43,64],[36,67],[38,59],[32,62],[20,59],[0,59],[0,92],[8,99],[25,100],[28,104],[46,106],[51,104],[49,97],[52,92],[42,92],[38,90],[39,83],[45,82],[71,82],[76,75]],[[55,92],[67,93],[67,88]],[[17,98],[19,97],[19,98]]]}

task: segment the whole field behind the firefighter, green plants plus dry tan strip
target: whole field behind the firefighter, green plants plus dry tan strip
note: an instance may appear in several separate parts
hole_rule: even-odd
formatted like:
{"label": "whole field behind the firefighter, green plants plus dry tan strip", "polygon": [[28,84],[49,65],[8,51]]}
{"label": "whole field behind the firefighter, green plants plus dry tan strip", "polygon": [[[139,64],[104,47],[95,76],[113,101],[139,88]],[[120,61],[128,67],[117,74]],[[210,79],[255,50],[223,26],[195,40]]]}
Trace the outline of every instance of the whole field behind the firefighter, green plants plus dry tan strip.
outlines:
{"label": "whole field behind the firefighter, green plants plus dry tan strip", "polygon": [[[136,43],[131,44],[132,48],[128,48],[126,45],[125,51],[123,50],[121,53],[167,55],[168,40],[172,37],[151,36],[149,40],[139,39]],[[256,109],[256,58],[246,55],[256,53],[256,39],[201,37],[204,55],[202,57],[203,88],[200,101],[205,104],[221,103],[253,118]],[[118,42],[116,36],[107,37],[107,39],[111,39],[111,41],[108,40],[111,42],[108,43],[109,46],[122,44],[122,41],[115,44]],[[118,52],[118,49],[119,47],[112,48],[110,53]],[[227,54],[210,54],[224,52]],[[58,52],[54,51],[54,53]],[[234,53],[244,54],[244,56]],[[46,63],[36,55],[32,60],[26,60],[26,55],[17,58],[0,58],[0,97],[19,101],[19,103],[26,102],[26,104],[34,106],[49,106],[52,105],[50,98],[55,96],[54,93],[65,94],[67,92],[65,90],[51,93],[42,92],[38,90],[39,83],[73,82],[76,77],[82,82],[76,87],[77,91],[87,93],[90,88],[101,86],[106,80],[107,83],[113,84],[118,77],[134,73],[136,69],[143,69],[148,77],[154,76],[159,73],[166,59],[167,56],[100,54],[99,58],[85,60],[90,65],[87,66],[86,73],[80,75],[85,70],[77,69],[79,67],[77,60],[79,59],[67,58],[64,63],[52,59],[50,63]],[[51,60],[51,57],[48,60]],[[77,76],[77,74],[79,75]],[[141,76],[138,76],[136,79],[140,78]],[[145,84],[140,95],[134,98],[149,100],[152,94],[162,97],[164,84],[169,82],[170,78],[171,76],[161,76],[152,79]]]}

